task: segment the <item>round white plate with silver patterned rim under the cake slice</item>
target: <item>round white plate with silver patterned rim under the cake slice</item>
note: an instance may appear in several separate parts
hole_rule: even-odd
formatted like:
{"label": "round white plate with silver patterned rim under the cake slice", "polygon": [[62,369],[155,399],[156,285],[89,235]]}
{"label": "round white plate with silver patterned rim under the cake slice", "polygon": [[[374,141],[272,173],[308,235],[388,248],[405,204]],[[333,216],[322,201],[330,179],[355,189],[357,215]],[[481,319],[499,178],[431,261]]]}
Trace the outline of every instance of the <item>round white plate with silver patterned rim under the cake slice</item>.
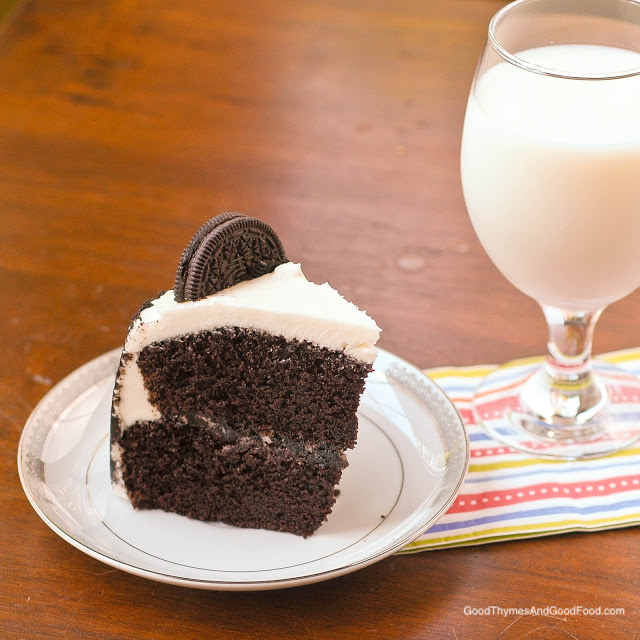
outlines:
{"label": "round white plate with silver patterned rim under the cake slice", "polygon": [[135,575],[220,590],[333,578],[417,538],[444,513],[464,478],[469,444],[457,411],[418,369],[380,349],[336,505],[311,537],[134,511],[109,481],[119,354],[85,364],[42,399],[22,433],[18,467],[29,501],[58,535]]}

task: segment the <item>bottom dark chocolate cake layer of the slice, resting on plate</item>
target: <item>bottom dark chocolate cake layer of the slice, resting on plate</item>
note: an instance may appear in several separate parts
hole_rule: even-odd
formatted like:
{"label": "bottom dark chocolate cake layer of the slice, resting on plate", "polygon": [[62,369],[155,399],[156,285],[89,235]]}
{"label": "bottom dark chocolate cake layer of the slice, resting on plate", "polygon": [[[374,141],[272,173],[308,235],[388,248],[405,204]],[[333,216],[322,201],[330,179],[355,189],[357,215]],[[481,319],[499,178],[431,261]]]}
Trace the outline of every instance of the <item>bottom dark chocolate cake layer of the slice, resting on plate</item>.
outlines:
{"label": "bottom dark chocolate cake layer of the slice, resting on plate", "polygon": [[241,434],[197,415],[135,423],[121,444],[135,508],[304,537],[326,520],[347,466],[336,448]]}

